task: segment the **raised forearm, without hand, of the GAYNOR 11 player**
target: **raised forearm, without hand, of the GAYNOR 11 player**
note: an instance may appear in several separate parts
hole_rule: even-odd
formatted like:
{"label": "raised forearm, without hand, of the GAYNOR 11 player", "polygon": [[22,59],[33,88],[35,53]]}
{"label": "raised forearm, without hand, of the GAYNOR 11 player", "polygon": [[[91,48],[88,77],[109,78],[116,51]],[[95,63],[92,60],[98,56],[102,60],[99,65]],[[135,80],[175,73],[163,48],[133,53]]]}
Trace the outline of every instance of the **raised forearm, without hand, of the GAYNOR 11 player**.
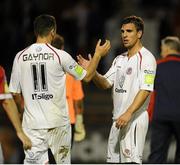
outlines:
{"label": "raised forearm, without hand, of the GAYNOR 11 player", "polygon": [[91,81],[91,79],[94,77],[100,59],[101,59],[101,56],[98,53],[95,53],[87,68],[87,74],[85,78],[83,79],[85,82]]}

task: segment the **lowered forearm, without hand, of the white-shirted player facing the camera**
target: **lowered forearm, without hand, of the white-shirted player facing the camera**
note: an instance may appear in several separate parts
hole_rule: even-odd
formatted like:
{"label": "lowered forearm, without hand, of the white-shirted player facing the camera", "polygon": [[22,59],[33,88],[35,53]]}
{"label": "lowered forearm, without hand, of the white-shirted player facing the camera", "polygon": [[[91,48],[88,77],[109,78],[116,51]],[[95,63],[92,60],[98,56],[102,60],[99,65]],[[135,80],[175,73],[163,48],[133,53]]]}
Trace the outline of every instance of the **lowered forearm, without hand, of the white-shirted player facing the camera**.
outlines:
{"label": "lowered forearm, without hand, of the white-shirted player facing the camera", "polygon": [[136,112],[145,102],[147,97],[149,96],[150,92],[146,90],[140,90],[136,97],[134,98],[133,103],[127,109],[126,112],[133,114]]}

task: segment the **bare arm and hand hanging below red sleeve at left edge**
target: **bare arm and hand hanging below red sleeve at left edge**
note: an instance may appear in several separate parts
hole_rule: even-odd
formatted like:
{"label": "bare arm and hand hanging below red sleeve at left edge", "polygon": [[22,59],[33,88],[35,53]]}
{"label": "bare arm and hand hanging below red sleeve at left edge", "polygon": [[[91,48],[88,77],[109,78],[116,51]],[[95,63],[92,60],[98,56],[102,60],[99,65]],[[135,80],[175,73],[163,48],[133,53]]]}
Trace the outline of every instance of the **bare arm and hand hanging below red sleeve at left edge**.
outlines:
{"label": "bare arm and hand hanging below red sleeve at left edge", "polygon": [[32,147],[31,140],[25,135],[24,131],[22,130],[19,112],[17,110],[14,99],[5,99],[2,103],[2,106],[15,128],[18,138],[23,143],[24,149],[30,149]]}

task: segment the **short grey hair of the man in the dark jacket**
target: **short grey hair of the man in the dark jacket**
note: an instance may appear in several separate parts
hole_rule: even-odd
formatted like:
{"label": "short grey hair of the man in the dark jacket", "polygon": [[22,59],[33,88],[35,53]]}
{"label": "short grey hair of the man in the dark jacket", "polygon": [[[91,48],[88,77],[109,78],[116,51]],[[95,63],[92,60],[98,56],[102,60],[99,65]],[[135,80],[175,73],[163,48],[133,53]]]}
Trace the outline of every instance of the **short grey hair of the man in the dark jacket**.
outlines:
{"label": "short grey hair of the man in the dark jacket", "polygon": [[167,36],[161,40],[162,45],[166,45],[172,50],[180,52],[180,40],[176,36]]}

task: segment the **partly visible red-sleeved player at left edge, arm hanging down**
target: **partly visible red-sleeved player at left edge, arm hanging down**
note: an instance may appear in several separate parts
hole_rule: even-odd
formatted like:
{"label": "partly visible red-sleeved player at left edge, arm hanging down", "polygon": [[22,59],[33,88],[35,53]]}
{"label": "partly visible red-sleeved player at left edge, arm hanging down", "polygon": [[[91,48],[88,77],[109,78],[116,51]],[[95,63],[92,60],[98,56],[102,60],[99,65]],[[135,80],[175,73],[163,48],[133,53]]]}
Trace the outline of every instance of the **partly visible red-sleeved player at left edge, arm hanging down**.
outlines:
{"label": "partly visible red-sleeved player at left edge, arm hanging down", "polygon": [[[9,92],[6,75],[4,68],[0,66],[0,101],[2,107],[6,111],[9,119],[11,120],[14,128],[16,129],[17,136],[23,143],[25,150],[30,149],[32,144],[30,139],[24,134],[21,126],[21,120],[19,117],[18,109],[14,102],[12,95]],[[0,163],[3,163],[3,154],[0,141]]]}

